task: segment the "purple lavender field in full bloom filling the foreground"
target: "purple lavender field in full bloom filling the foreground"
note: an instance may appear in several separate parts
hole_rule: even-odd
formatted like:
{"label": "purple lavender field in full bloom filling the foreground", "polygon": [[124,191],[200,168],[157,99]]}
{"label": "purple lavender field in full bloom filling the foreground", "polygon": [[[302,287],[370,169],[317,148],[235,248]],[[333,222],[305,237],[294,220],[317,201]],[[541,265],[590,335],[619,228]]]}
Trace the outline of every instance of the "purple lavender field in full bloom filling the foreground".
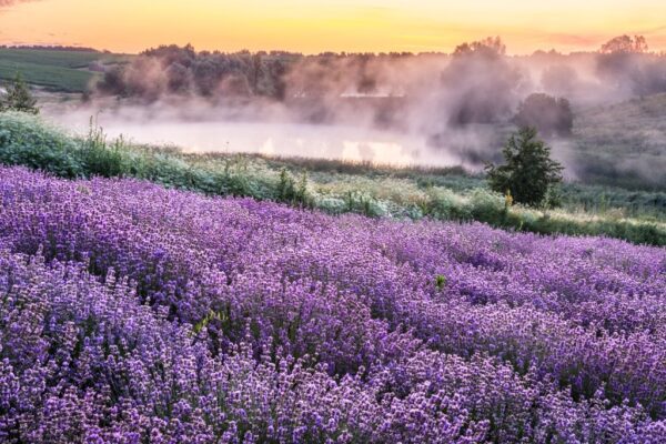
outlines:
{"label": "purple lavender field in full bloom filling the foreground", "polygon": [[663,443],[666,250],[0,168],[0,442]]}

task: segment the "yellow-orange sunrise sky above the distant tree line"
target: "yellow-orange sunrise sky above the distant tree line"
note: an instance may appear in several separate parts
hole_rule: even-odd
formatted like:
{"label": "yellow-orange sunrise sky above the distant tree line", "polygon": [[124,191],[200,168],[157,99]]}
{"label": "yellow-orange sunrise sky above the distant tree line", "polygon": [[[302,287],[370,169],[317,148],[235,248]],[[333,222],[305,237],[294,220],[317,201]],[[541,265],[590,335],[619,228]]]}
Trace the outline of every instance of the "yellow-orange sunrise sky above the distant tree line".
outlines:
{"label": "yellow-orange sunrise sky above the distant tree line", "polygon": [[509,53],[595,50],[619,34],[666,50],[664,0],[0,0],[1,44],[135,53],[198,50],[451,52],[501,36]]}

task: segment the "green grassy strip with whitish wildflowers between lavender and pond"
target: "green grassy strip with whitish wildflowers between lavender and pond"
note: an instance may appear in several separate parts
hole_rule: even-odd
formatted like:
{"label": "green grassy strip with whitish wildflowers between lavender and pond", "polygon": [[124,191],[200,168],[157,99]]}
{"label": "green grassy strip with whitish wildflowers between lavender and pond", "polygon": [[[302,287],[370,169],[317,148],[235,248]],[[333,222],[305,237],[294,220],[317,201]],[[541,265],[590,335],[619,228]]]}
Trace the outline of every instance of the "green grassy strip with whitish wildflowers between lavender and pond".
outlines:
{"label": "green grassy strip with whitish wildflowers between lavender and pond", "polygon": [[0,163],[63,178],[125,176],[212,195],[241,195],[332,214],[481,221],[553,234],[607,235],[666,245],[666,193],[566,184],[563,208],[506,206],[485,180],[460,169],[373,167],[249,154],[183,154],[108,141],[91,128],[72,137],[20,113],[0,114]]}

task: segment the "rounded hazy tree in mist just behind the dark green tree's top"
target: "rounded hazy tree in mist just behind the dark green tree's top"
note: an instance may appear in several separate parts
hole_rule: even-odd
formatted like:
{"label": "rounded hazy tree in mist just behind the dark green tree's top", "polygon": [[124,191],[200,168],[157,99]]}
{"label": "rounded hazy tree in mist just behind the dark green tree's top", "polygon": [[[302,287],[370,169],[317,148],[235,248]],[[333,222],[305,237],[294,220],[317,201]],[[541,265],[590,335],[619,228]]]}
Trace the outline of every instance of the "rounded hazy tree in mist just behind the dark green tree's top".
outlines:
{"label": "rounded hazy tree in mist just behind the dark green tree's top", "polygon": [[574,113],[566,99],[555,99],[544,93],[533,93],[519,105],[514,117],[518,127],[535,127],[547,135],[571,135],[574,127]]}

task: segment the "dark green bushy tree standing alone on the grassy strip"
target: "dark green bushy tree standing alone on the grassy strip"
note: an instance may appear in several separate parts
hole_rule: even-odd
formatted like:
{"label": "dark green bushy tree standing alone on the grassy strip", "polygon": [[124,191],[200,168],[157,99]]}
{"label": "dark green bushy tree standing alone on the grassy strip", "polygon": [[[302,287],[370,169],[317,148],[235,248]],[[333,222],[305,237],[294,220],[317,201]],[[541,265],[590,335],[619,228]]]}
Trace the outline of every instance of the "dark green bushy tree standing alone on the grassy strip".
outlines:
{"label": "dark green bushy tree standing alone on the grassy strip", "polygon": [[502,150],[505,163],[488,164],[488,183],[494,191],[511,194],[518,203],[537,206],[548,190],[562,182],[558,162],[551,159],[551,148],[537,139],[535,128],[525,127],[512,134]]}

